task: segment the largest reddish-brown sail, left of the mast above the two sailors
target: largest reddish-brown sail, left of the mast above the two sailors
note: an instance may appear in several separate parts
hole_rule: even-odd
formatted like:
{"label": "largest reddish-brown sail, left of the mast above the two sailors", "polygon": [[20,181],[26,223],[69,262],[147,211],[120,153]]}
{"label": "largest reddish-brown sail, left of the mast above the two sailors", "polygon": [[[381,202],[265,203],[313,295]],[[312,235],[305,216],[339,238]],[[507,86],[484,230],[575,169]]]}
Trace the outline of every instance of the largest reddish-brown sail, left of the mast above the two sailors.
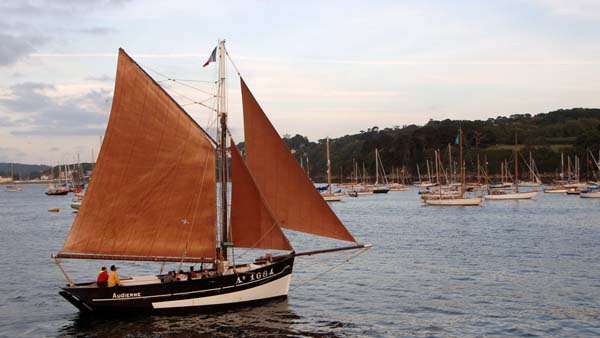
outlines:
{"label": "largest reddish-brown sail, left of the mast above the two sailors", "polygon": [[214,257],[215,220],[212,141],[120,50],[98,163],[58,256]]}

